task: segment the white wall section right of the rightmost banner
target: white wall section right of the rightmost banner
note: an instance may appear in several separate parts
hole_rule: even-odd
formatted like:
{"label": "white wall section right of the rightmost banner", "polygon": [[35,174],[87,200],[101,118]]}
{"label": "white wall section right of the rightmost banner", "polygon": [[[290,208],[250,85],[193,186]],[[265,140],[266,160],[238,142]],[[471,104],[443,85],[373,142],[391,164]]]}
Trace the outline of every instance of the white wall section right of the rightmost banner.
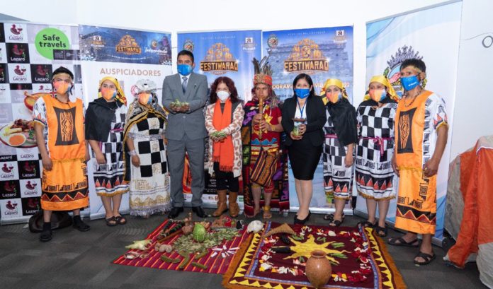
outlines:
{"label": "white wall section right of the rightmost banner", "polygon": [[450,160],[493,134],[493,1],[463,1]]}

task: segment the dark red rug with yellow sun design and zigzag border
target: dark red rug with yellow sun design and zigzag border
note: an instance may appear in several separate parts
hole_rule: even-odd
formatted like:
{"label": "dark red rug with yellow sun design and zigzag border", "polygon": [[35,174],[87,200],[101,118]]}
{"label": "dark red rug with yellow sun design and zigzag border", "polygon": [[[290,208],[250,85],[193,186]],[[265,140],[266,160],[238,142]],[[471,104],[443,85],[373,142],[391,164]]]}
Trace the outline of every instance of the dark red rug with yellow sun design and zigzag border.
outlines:
{"label": "dark red rug with yellow sun design and zigzag border", "polygon": [[[314,249],[322,250],[332,272],[322,288],[406,288],[385,244],[373,229],[289,225],[296,235],[264,238],[278,223],[242,244],[225,273],[222,285],[230,289],[313,288],[305,275],[305,262]],[[280,251],[280,249],[284,249]]]}

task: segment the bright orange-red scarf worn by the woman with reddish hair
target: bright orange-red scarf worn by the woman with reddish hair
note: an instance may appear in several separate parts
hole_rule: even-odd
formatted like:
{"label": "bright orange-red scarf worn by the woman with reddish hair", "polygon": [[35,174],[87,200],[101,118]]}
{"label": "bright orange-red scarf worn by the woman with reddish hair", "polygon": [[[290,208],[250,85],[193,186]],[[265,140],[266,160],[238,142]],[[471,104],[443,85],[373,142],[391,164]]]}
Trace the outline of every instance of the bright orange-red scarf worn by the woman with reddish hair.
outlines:
{"label": "bright orange-red scarf worn by the woman with reddish hair", "polygon": [[[221,112],[220,100],[216,101],[214,115],[212,116],[212,126],[217,131],[225,129],[231,124],[232,103],[229,98],[225,102],[224,111]],[[222,172],[233,171],[234,147],[231,135],[228,135],[222,141],[214,142],[212,146],[212,160],[219,162],[219,169]]]}

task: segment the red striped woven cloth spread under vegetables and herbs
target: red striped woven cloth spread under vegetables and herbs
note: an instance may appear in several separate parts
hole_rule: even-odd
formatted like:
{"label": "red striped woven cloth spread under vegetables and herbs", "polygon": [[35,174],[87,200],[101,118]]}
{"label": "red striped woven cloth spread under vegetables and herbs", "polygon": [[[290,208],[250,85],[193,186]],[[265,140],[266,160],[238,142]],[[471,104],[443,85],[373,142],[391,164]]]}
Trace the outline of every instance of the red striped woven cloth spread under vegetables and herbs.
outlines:
{"label": "red striped woven cloth spread under vegetables and herbs", "polygon": [[[122,256],[118,257],[118,259],[115,259],[115,261],[113,261],[113,264],[147,267],[154,269],[165,269],[165,270],[177,270],[177,271],[180,270],[180,271],[190,271],[190,272],[224,274],[227,271],[229,264],[231,263],[234,257],[234,254],[232,254],[232,252],[236,252],[235,248],[240,247],[242,242],[244,242],[244,240],[246,240],[246,238],[249,236],[246,233],[245,229],[240,230],[239,237],[234,237],[230,241],[223,242],[222,244],[220,244],[220,246],[215,247],[215,249],[208,249],[207,253],[198,259],[194,259],[192,256],[189,261],[186,261],[177,252],[173,251],[171,253],[166,253],[166,252],[160,253],[154,250],[154,244],[156,243],[159,237],[159,232],[161,232],[162,228],[164,227],[164,225],[166,225],[166,223],[168,223],[168,220],[165,220],[164,223],[159,225],[153,232],[147,235],[146,239],[148,240],[150,239],[152,240],[152,242],[151,245],[149,246],[149,249],[146,252],[142,252],[137,249],[131,249],[125,253],[125,254],[128,254],[130,252],[137,252],[139,254],[145,253],[148,254],[148,256],[145,256],[145,258],[125,259],[125,254],[123,254]],[[172,226],[170,228],[172,228]],[[180,236],[181,235],[176,235],[175,237],[166,240],[163,244],[173,244],[174,241],[177,240]],[[170,259],[179,259],[179,262],[178,263],[164,262],[161,259],[162,255],[165,255]],[[193,266],[192,263],[206,266],[207,269],[200,269],[198,266]],[[182,269],[179,269],[180,266],[182,266]]]}

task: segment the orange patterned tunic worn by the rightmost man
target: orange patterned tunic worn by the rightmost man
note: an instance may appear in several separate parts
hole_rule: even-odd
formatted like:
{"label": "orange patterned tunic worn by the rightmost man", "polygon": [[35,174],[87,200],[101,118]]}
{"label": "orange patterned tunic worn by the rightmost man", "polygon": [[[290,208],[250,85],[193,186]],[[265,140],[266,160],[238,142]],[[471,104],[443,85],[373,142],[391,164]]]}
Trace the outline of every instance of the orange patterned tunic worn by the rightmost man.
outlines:
{"label": "orange patterned tunic worn by the rightmost man", "polygon": [[399,194],[395,227],[434,234],[436,226],[436,175],[423,172],[425,104],[432,93],[424,90],[409,107],[399,101],[395,115],[395,160],[399,167]]}

